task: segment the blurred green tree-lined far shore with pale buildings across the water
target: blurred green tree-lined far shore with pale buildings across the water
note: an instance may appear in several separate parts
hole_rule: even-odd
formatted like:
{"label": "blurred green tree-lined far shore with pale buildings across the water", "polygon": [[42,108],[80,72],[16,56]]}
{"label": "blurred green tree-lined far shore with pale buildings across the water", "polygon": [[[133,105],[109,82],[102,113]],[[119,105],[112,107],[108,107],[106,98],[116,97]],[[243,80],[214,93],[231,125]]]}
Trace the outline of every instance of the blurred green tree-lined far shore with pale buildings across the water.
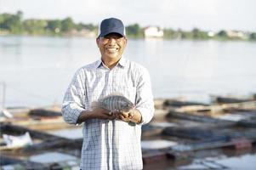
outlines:
{"label": "blurred green tree-lined far shore with pale buildings across the water", "polygon": [[[96,37],[98,35],[99,26],[75,23],[71,17],[63,20],[23,20],[22,17],[21,11],[17,11],[16,14],[0,14],[0,36]],[[191,31],[185,31],[160,26],[139,26],[137,23],[126,26],[126,35],[134,39],[256,41],[256,32],[251,31],[202,31],[196,27]]]}

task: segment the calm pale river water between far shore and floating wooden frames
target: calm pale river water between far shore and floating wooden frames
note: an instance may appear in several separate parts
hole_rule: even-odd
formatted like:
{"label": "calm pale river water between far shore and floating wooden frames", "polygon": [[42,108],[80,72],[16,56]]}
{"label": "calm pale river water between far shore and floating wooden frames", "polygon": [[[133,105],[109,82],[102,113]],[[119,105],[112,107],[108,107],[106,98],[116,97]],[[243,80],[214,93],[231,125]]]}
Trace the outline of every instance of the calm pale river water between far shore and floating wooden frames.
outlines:
{"label": "calm pale river water between far shore and floating wooden frames", "polygon": [[[256,92],[256,42],[128,40],[125,57],[150,71],[155,98]],[[71,77],[100,58],[94,39],[0,37],[0,102],[5,106],[61,104]],[[2,86],[1,86],[2,85]]]}

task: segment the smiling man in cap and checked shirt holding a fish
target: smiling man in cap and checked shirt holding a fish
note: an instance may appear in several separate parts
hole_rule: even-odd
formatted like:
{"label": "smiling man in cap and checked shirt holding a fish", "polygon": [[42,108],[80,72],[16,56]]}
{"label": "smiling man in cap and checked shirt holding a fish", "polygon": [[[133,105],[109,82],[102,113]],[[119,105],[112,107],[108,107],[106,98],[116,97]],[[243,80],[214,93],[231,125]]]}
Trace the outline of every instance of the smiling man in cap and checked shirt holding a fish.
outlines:
{"label": "smiling man in cap and checked shirt holding a fish", "polygon": [[[83,122],[80,167],[142,169],[141,125],[150,122],[154,113],[149,73],[122,57],[127,39],[121,20],[103,20],[96,42],[101,59],[76,72],[62,107],[65,122]],[[94,101],[111,94],[122,94],[136,107],[111,114],[102,108],[92,109]]]}

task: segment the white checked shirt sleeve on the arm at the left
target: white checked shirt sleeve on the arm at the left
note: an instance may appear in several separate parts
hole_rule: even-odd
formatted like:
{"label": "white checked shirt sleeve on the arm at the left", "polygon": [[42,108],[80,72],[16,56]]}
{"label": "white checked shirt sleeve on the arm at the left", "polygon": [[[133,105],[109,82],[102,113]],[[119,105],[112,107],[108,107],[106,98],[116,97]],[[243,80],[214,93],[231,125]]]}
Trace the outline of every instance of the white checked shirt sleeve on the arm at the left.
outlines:
{"label": "white checked shirt sleeve on the arm at the left", "polygon": [[61,113],[65,122],[76,124],[82,111],[85,111],[85,76],[78,70],[65,92]]}

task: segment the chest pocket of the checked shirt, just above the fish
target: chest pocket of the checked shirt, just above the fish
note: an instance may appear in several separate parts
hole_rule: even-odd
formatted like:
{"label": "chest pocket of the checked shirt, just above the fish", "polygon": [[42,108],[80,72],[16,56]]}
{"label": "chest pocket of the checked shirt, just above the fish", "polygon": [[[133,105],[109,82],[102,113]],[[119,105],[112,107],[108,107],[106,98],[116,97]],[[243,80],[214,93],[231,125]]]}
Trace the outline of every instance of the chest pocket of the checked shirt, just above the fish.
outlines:
{"label": "chest pocket of the checked shirt, just above the fish", "polygon": [[122,94],[124,97],[129,99],[131,102],[135,104],[136,99],[136,88],[134,86],[116,86],[113,88],[114,94]]}

